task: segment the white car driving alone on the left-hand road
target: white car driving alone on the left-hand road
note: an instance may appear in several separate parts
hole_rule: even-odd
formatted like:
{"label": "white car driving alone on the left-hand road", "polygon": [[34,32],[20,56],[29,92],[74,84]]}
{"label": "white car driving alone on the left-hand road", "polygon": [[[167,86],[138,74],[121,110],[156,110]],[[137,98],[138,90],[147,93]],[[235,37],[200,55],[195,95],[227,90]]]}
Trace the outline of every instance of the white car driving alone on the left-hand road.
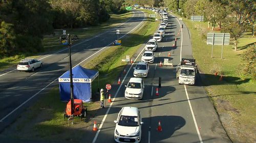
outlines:
{"label": "white car driving alone on the left-hand road", "polygon": [[25,58],[17,65],[18,71],[31,71],[34,72],[36,68],[42,67],[42,62],[36,59]]}

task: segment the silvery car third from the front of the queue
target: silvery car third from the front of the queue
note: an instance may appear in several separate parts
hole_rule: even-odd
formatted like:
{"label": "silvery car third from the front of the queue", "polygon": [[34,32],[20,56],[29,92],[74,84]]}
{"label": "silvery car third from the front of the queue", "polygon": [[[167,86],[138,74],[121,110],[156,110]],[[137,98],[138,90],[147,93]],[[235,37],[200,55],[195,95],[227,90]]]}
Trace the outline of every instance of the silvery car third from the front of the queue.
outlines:
{"label": "silvery car third from the front of the queue", "polygon": [[146,62],[139,62],[134,67],[133,76],[135,77],[147,77],[147,73],[150,70],[150,66]]}

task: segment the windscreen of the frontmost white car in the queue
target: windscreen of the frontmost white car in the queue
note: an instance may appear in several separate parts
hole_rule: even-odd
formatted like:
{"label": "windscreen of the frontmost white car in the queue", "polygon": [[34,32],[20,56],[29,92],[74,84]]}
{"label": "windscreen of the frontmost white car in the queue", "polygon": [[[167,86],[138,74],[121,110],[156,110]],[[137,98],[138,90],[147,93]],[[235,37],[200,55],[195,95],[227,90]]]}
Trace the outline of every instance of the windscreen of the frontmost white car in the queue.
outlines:
{"label": "windscreen of the frontmost white car in the queue", "polygon": [[129,127],[139,126],[138,117],[137,116],[121,116],[118,121],[118,125],[129,126]]}

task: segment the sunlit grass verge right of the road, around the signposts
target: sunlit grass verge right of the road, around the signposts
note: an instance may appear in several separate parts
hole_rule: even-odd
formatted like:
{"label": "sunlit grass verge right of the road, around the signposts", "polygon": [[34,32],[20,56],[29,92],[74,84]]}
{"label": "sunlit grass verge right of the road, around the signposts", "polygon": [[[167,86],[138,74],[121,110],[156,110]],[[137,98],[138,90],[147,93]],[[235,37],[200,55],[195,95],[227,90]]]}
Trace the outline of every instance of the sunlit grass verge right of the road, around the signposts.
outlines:
{"label": "sunlit grass verge right of the road, around the signposts", "polygon": [[[240,55],[248,45],[256,42],[256,39],[244,33],[239,39],[238,51],[234,51],[232,45],[223,47],[223,59],[221,59],[222,46],[214,46],[213,58],[211,58],[211,45],[206,45],[205,34],[212,33],[207,28],[207,23],[200,23],[183,19],[189,27],[193,46],[193,56],[202,71],[203,82],[206,90],[220,115],[228,135],[233,142],[255,141],[256,127],[256,83],[250,78],[241,79],[238,74]],[[196,27],[196,28],[195,28]],[[220,31],[214,31],[219,33]],[[231,42],[230,42],[231,43]],[[214,73],[218,71],[216,77]],[[220,74],[223,80],[219,81]]]}

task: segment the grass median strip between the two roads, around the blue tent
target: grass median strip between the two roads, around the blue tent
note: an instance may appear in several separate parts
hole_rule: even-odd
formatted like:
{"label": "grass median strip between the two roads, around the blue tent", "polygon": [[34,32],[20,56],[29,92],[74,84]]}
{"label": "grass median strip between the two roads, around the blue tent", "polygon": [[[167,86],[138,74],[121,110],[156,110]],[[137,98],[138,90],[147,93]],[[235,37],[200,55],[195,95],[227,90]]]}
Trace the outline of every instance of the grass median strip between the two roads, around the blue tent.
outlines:
{"label": "grass median strip between the two roads, around the blue tent", "polygon": [[[113,83],[114,80],[117,80],[118,74],[122,72],[123,67],[126,65],[126,63],[121,62],[123,56],[130,55],[132,57],[141,47],[141,44],[154,34],[158,24],[159,22],[150,25],[147,18],[136,32],[122,39],[121,46],[110,47],[102,52],[100,56],[86,64],[86,68],[99,70],[101,76],[99,81],[100,87],[104,87],[105,83]],[[98,78],[92,84],[93,95],[95,95],[98,88],[97,80]],[[83,139],[84,135],[87,135],[85,130],[91,132],[92,122],[90,121],[97,112],[99,102],[87,103],[89,111],[86,122],[75,119],[77,124],[72,126],[69,126],[68,122],[63,120],[63,109],[65,109],[66,103],[59,100],[58,87],[53,88],[48,94],[40,97],[35,102],[35,105],[28,109],[29,112],[26,112],[24,115],[26,118],[17,125],[16,131],[18,133],[15,134],[15,138],[45,141],[60,141],[62,139],[79,142]],[[70,134],[70,132],[74,132],[72,130],[76,131],[75,135]],[[26,134],[28,132],[29,134]]]}

